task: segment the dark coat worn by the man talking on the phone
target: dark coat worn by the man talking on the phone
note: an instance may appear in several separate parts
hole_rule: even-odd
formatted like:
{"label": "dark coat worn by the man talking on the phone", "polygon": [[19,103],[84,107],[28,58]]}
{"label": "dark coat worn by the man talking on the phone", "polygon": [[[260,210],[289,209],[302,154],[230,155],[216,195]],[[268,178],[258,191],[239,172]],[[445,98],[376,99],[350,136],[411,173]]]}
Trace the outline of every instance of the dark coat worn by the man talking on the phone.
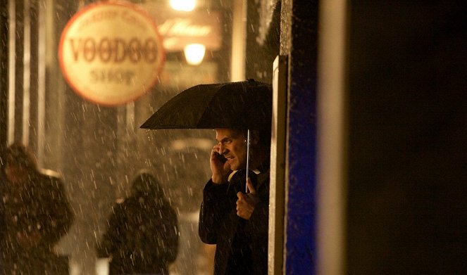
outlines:
{"label": "dark coat worn by the man talking on the phone", "polygon": [[214,274],[268,273],[269,171],[249,173],[261,202],[249,220],[237,216],[237,192],[245,191],[246,173],[238,171],[229,184],[204,187],[199,212],[201,241],[216,244]]}

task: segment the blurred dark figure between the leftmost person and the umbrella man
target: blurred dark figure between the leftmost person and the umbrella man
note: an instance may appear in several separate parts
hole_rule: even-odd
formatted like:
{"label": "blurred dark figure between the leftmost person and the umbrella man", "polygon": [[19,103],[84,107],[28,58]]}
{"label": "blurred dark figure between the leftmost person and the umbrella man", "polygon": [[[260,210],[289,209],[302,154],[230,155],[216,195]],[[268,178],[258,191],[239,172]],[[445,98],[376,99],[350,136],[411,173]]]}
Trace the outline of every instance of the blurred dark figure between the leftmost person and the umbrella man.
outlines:
{"label": "blurred dark figure between the leftmost person and the umbrella man", "polygon": [[169,274],[178,253],[178,218],[156,178],[141,171],[130,197],[112,207],[97,255],[109,258],[109,274]]}

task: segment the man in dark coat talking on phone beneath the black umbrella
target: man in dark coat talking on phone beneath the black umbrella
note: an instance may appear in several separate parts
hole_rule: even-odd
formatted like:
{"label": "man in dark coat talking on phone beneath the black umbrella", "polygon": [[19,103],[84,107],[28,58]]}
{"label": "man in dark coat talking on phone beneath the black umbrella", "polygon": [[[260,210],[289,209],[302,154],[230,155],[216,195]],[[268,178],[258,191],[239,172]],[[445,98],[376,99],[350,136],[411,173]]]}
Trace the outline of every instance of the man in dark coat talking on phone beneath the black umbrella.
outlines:
{"label": "man in dark coat talking on phone beneath the black umbrella", "polygon": [[[201,241],[216,244],[214,274],[267,274],[270,131],[216,129],[204,187]],[[245,192],[247,183],[248,192]]]}

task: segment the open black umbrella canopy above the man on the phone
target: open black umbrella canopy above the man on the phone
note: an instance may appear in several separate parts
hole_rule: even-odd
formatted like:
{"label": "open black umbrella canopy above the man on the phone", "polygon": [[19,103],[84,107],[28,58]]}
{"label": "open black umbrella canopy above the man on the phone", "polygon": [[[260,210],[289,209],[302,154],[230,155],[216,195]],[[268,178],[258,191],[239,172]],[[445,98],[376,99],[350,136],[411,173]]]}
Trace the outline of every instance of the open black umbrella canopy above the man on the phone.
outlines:
{"label": "open black umbrella canopy above the man on the phone", "polygon": [[144,129],[270,129],[272,86],[244,82],[200,84],[171,98]]}

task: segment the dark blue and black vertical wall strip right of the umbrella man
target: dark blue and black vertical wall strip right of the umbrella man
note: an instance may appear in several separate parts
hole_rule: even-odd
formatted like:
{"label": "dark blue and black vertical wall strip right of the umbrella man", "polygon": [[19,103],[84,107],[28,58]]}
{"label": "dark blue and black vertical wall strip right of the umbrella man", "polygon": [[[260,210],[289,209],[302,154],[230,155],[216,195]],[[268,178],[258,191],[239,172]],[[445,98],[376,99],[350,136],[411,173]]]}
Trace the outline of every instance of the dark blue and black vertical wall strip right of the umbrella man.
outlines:
{"label": "dark blue and black vertical wall strip right of the umbrella man", "polygon": [[287,56],[285,274],[316,265],[318,1],[282,1],[280,54]]}

